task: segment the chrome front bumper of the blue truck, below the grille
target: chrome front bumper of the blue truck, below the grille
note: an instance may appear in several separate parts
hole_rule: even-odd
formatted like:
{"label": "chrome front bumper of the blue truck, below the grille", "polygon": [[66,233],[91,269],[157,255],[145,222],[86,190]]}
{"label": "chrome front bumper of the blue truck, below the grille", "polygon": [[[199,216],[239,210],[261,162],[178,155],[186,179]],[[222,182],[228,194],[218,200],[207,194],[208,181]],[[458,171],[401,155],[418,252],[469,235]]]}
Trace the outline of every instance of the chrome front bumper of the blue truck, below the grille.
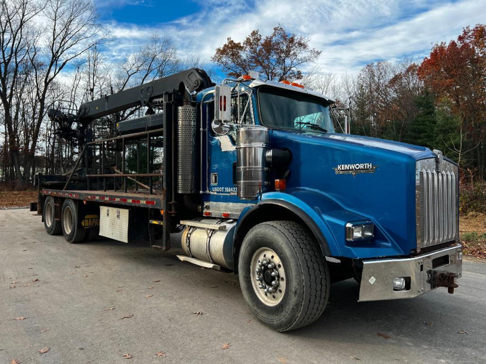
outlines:
{"label": "chrome front bumper of the blue truck, below the grille", "polygon": [[[420,296],[436,288],[437,273],[434,272],[453,273],[460,278],[462,246],[458,244],[413,258],[364,260],[359,301]],[[406,279],[406,290],[393,289],[393,279],[397,277]]]}

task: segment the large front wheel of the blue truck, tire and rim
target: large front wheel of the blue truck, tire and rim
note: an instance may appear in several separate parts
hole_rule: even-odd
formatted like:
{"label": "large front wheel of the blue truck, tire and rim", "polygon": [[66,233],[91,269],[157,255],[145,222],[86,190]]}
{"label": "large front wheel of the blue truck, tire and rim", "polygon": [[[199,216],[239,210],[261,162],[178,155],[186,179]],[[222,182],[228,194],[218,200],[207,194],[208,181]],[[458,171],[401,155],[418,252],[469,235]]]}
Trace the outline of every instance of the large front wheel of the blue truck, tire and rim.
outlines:
{"label": "large front wheel of the blue truck, tire and rim", "polygon": [[310,233],[292,221],[252,228],[238,262],[243,297],[255,316],[276,331],[317,320],[329,297],[329,269]]}

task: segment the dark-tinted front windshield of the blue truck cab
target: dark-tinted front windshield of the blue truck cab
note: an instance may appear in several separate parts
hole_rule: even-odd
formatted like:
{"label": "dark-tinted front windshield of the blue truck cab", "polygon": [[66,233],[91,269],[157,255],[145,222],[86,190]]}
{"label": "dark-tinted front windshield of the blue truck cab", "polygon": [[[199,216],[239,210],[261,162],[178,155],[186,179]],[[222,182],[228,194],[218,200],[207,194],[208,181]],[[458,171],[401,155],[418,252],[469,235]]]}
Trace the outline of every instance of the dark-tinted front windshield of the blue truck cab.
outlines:
{"label": "dark-tinted front windshield of the blue truck cab", "polygon": [[260,87],[261,122],[275,129],[334,132],[328,102],[301,92]]}

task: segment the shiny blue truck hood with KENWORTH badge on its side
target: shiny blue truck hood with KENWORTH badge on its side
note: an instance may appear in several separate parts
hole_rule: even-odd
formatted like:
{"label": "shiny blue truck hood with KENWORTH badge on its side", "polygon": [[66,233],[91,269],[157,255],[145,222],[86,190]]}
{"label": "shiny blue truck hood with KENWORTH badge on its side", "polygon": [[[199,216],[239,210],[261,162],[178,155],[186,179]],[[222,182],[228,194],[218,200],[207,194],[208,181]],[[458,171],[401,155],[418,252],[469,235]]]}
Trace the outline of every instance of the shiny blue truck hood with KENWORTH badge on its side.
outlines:
{"label": "shiny blue truck hood with KENWORTH badge on its side", "polygon": [[336,239],[342,240],[346,219],[375,223],[373,243],[362,243],[366,251],[352,255],[380,255],[373,248],[408,255],[417,248],[416,162],[435,157],[430,149],[358,135],[283,130],[271,131],[271,146],[292,152],[288,193],[308,190],[332,200],[323,206],[315,202],[312,209],[326,216]]}

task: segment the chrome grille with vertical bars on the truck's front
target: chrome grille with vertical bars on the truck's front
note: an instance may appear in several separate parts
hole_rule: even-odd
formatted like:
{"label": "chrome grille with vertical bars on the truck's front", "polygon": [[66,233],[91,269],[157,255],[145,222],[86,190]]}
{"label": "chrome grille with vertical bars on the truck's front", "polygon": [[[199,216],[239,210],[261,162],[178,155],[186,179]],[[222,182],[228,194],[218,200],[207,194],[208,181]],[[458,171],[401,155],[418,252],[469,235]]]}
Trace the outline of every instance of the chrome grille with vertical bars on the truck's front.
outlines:
{"label": "chrome grille with vertical bars on the truck's front", "polygon": [[417,161],[417,248],[457,238],[457,166],[439,158]]}

